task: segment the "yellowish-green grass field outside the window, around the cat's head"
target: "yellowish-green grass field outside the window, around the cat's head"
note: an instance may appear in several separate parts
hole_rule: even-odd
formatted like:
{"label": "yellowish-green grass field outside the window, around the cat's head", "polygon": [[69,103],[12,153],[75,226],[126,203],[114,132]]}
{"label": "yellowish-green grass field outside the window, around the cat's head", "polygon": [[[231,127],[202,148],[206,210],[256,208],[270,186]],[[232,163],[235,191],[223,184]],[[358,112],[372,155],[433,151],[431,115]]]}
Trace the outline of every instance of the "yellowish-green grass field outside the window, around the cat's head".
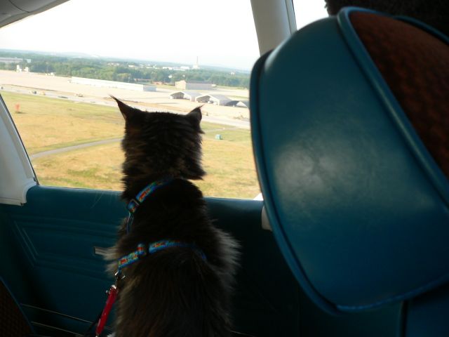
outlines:
{"label": "yellowish-green grass field outside the window, around the cat's head", "polygon": [[[123,137],[118,109],[2,91],[29,154]],[[18,112],[15,106],[19,104]],[[253,199],[259,192],[250,131],[203,122],[203,166],[197,185],[206,196]],[[216,140],[215,135],[222,135]],[[121,190],[119,142],[85,147],[32,161],[42,185]]]}

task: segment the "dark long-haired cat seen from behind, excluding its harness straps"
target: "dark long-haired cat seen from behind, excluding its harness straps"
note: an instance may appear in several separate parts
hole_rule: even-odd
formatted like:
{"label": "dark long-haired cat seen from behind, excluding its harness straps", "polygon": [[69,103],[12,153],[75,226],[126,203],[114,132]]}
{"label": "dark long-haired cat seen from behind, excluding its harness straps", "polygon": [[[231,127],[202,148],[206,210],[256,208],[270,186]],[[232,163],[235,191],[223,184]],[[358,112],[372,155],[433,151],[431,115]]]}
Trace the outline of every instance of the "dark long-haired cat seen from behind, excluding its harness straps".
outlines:
{"label": "dark long-haired cat seen from behind, excluding its harness straps", "polygon": [[158,251],[126,267],[116,303],[116,337],[230,336],[230,296],[237,244],[215,227],[203,194],[187,179],[201,179],[201,110],[187,115],[142,112],[114,98],[126,120],[122,147],[124,190],[128,202],[149,183],[174,180],[139,206],[130,232],[126,221],[109,252],[109,271],[117,260],[161,239],[193,243],[190,248]]}

